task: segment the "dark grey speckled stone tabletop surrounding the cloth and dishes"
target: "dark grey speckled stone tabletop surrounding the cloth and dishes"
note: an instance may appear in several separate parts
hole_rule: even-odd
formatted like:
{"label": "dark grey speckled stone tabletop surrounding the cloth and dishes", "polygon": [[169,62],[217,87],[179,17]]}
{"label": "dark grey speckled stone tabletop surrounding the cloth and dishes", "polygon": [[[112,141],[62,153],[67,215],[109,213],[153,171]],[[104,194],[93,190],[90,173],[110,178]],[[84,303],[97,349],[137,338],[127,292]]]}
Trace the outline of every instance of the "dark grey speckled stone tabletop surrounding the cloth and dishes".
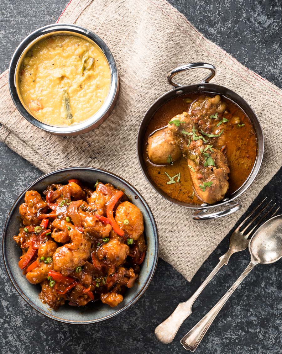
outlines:
{"label": "dark grey speckled stone tabletop surrounding the cloth and dishes", "polygon": [[[134,0],[132,0],[134,1]],[[282,3],[280,0],[170,0],[208,39],[241,63],[282,87]],[[0,71],[31,31],[56,21],[66,0],[2,0]],[[31,137],[32,138],[32,137]],[[42,172],[0,144],[0,223],[19,193]],[[271,196],[282,207],[282,171],[258,199]],[[249,261],[237,253],[203,291],[194,313],[173,343],[160,344],[154,329],[188,299],[228,247],[228,236],[202,265],[191,283],[161,259],[145,295],[126,312],[99,324],[61,324],[38,314],[18,295],[0,259],[0,352],[3,354],[168,354],[186,353],[180,338],[218,301]],[[189,245],[187,245],[189,247]],[[282,261],[259,265],[236,290],[203,339],[198,354],[278,354],[282,352]]]}

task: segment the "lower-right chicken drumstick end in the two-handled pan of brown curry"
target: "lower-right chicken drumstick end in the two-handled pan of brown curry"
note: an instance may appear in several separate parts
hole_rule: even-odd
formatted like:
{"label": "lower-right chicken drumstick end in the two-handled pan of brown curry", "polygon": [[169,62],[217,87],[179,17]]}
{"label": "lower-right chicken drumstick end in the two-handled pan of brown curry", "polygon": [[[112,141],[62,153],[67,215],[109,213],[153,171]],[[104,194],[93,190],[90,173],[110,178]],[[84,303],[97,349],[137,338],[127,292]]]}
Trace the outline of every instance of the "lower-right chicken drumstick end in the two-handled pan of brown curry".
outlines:
{"label": "lower-right chicken drumstick end in the two-handled pan of brown curry", "polygon": [[208,146],[202,145],[194,150],[197,159],[188,158],[188,164],[191,166],[189,167],[190,174],[197,195],[204,202],[214,204],[224,198],[229,188],[228,173],[230,170],[226,156],[214,148],[212,148],[213,151],[206,150]]}

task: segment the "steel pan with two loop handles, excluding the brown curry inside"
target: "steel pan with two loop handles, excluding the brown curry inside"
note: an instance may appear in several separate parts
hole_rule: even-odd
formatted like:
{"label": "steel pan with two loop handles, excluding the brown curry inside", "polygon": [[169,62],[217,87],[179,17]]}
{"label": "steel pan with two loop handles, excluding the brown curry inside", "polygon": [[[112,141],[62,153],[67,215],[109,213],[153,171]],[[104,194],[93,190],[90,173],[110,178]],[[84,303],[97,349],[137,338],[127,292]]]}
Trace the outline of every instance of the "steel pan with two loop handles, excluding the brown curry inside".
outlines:
{"label": "steel pan with two loop handles, excluding the brown curry inside", "polygon": [[[179,84],[178,82],[173,81],[174,75],[181,73],[185,70],[189,70],[189,69],[208,69],[211,71],[211,74],[209,74],[205,79],[203,79],[202,82],[200,82],[198,84],[183,86],[183,85]],[[257,176],[257,173],[259,171],[261,161],[263,159],[263,152],[264,152],[263,131],[261,130],[261,126],[259,124],[258,118],[255,115],[254,111],[248,105],[248,103],[246,101],[244,101],[244,99],[241,96],[237,95],[237,93],[235,93],[234,91],[231,91],[224,86],[210,84],[209,80],[211,80],[215,74],[216,74],[215,67],[212,64],[207,64],[207,63],[186,64],[186,65],[182,65],[178,68],[175,68],[171,72],[169,72],[167,75],[167,81],[170,85],[173,86],[173,89],[164,93],[148,109],[148,111],[145,113],[143,120],[140,124],[139,131],[138,131],[138,137],[137,137],[138,160],[139,160],[139,164],[141,166],[141,169],[142,169],[147,181],[151,184],[151,186],[159,194],[161,194],[167,200],[169,200],[177,205],[184,206],[186,208],[197,209],[192,215],[192,218],[195,220],[214,219],[214,218],[218,218],[221,216],[229,215],[229,214],[239,210],[241,208],[241,204],[238,202],[235,202],[234,200],[239,195],[241,195],[243,192],[245,192],[246,189],[254,181],[255,176]],[[252,172],[249,175],[247,181],[238,190],[236,190],[236,192],[233,193],[230,196],[230,198],[224,198],[223,200],[221,200],[215,204],[212,204],[212,205],[207,204],[207,203],[203,203],[201,205],[184,203],[184,202],[181,202],[181,201],[178,201],[178,200],[175,200],[175,199],[169,197],[152,180],[152,178],[149,175],[148,170],[146,169],[145,161],[143,158],[143,144],[144,144],[143,139],[144,139],[145,132],[146,132],[147,126],[149,124],[149,121],[152,119],[152,116],[154,115],[156,110],[159,109],[167,101],[173,99],[174,97],[177,97],[177,96],[183,95],[183,94],[187,94],[187,93],[195,93],[195,92],[213,93],[213,94],[218,93],[220,95],[223,95],[223,96],[229,98],[231,101],[235,102],[244,111],[244,113],[249,117],[249,119],[251,119],[251,122],[254,126],[254,129],[255,129],[257,143],[258,143],[257,159],[255,160],[255,164],[253,166]],[[218,207],[218,206],[227,206],[227,209],[211,212],[211,209],[214,209],[215,207]]]}

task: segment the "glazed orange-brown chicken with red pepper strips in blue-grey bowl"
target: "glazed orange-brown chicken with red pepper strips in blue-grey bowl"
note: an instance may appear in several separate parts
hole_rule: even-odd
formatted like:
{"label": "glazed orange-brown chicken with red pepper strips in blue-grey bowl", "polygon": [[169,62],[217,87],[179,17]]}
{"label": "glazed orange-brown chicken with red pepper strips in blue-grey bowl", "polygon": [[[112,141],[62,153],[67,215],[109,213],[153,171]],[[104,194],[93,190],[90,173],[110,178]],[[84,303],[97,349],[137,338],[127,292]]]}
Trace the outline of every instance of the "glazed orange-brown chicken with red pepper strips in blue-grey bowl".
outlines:
{"label": "glazed orange-brown chicken with red pepper strips in blue-grey bowl", "polygon": [[97,181],[95,187],[77,179],[51,184],[43,195],[26,192],[19,207],[18,264],[31,284],[41,285],[39,298],[53,309],[66,301],[117,306],[144,261],[140,209],[109,183]]}

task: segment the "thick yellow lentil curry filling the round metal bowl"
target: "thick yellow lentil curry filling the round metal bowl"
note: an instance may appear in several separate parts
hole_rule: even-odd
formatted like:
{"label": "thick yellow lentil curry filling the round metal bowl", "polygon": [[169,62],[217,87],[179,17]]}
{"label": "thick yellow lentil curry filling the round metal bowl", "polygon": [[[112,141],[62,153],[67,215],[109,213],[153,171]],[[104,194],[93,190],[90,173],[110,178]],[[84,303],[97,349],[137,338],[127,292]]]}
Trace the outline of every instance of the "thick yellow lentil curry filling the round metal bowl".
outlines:
{"label": "thick yellow lentil curry filling the round metal bowl", "polygon": [[102,107],[110,83],[110,67],[98,46],[61,35],[31,47],[23,59],[19,90],[36,119],[68,126],[90,118]]}

